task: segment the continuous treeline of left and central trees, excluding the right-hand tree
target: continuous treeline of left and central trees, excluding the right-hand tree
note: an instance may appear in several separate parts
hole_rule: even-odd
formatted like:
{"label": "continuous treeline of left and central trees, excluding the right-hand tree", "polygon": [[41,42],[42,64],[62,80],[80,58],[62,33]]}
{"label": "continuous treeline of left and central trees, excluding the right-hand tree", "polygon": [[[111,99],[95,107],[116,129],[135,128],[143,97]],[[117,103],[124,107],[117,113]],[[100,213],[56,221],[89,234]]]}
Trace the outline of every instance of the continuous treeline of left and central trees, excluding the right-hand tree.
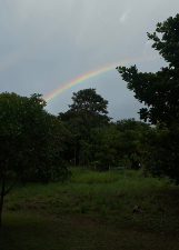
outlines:
{"label": "continuous treeline of left and central trees, excluding the right-hand tree", "polygon": [[110,122],[108,101],[95,89],[80,90],[72,100],[56,117],[44,110],[41,94],[0,94],[0,226],[4,196],[18,181],[64,181],[69,164],[101,171],[123,161],[138,169],[136,141],[150,127],[135,119]]}

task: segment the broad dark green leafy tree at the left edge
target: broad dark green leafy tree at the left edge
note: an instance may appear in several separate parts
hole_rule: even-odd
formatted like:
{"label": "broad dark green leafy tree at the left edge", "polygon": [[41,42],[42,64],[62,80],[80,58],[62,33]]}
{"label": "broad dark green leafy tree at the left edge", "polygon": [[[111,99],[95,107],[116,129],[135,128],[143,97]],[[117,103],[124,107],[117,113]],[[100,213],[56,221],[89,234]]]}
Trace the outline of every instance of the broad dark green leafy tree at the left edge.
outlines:
{"label": "broad dark green leafy tree at the left edge", "polygon": [[31,172],[42,183],[69,176],[62,159],[67,131],[44,106],[41,94],[0,94],[0,226],[3,198],[18,180]]}

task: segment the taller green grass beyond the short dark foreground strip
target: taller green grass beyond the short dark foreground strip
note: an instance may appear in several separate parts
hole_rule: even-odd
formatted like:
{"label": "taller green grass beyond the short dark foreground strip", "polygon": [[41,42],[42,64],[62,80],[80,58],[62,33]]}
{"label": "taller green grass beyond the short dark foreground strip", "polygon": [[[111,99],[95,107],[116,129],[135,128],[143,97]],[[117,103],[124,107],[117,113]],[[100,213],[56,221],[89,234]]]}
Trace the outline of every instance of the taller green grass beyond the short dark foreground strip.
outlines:
{"label": "taller green grass beyond the short dark foreground strip", "polygon": [[[63,183],[18,186],[4,199],[3,212],[37,211],[49,214],[87,214],[152,229],[179,230],[179,188],[172,181],[148,177],[140,171],[125,174],[112,169],[97,172],[70,168]],[[133,207],[138,209],[133,213]]]}

